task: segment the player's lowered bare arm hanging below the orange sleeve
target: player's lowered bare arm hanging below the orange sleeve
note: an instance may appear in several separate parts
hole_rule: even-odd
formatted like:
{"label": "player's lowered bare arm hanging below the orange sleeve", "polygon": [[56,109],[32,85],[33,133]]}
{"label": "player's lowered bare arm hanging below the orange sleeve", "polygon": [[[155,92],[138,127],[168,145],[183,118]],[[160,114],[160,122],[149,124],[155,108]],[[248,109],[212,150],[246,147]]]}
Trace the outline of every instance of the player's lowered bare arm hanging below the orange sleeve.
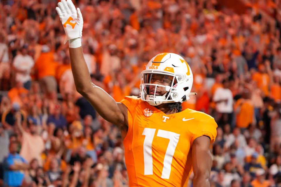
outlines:
{"label": "player's lowered bare arm hanging below the orange sleeve", "polygon": [[192,144],[192,168],[194,187],[209,187],[212,157],[210,153],[210,138],[200,136]]}

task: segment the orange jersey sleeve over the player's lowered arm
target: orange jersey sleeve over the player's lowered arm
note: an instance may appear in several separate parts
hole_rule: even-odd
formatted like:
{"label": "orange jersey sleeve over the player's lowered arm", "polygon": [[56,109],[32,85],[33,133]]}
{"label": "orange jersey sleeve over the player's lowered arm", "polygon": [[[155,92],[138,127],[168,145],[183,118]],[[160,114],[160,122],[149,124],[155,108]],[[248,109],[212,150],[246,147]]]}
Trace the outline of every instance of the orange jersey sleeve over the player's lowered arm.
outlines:
{"label": "orange jersey sleeve over the player's lowered arm", "polygon": [[215,141],[217,136],[217,123],[213,117],[206,121],[199,122],[191,138],[191,145],[193,141],[200,136],[208,136],[211,139],[211,143]]}

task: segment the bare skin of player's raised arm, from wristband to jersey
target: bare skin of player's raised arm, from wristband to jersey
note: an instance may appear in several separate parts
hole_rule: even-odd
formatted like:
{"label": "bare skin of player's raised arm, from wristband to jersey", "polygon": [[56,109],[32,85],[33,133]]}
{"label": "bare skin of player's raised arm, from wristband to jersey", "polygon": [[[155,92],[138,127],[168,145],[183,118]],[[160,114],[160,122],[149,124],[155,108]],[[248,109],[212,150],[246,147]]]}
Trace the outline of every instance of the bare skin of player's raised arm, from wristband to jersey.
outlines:
{"label": "bare skin of player's raised arm, from wristband to jersey", "polygon": [[91,82],[82,47],[69,48],[69,53],[77,91],[91,103],[105,120],[119,127],[126,124],[126,106],[122,103],[116,103],[108,93]]}

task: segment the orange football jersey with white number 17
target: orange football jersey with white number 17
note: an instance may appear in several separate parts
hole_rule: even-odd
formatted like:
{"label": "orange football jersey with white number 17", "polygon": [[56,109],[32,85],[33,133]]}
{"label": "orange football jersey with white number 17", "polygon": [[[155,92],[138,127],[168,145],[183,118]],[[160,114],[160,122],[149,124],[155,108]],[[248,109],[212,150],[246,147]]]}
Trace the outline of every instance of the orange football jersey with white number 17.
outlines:
{"label": "orange football jersey with white number 17", "polygon": [[166,115],[137,97],[125,97],[128,133],[124,138],[129,186],[187,186],[191,145],[199,136],[217,136],[213,117],[191,109]]}

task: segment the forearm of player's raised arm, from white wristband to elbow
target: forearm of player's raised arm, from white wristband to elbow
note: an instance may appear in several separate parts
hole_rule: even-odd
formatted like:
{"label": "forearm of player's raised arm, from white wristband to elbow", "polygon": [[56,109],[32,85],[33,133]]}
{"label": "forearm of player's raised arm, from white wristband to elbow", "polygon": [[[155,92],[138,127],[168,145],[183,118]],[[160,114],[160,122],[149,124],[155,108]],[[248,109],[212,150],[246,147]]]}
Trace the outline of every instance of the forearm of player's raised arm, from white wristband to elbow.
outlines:
{"label": "forearm of player's raised arm, from white wristband to elbow", "polygon": [[84,60],[82,47],[69,48],[69,54],[76,89],[79,93],[86,92],[92,84],[89,70]]}

